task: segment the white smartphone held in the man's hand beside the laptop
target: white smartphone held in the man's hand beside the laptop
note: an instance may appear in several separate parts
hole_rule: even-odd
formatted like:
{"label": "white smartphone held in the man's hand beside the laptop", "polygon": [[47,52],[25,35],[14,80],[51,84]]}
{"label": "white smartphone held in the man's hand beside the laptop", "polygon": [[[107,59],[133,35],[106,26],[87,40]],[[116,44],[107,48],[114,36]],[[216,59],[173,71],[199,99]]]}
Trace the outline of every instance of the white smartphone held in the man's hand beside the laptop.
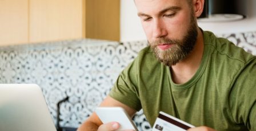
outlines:
{"label": "white smartphone held in the man's hand beside the laptop", "polygon": [[127,114],[125,109],[121,107],[97,107],[95,112],[103,124],[116,121],[121,125],[118,130],[133,129],[138,131],[133,121],[131,120],[131,117]]}

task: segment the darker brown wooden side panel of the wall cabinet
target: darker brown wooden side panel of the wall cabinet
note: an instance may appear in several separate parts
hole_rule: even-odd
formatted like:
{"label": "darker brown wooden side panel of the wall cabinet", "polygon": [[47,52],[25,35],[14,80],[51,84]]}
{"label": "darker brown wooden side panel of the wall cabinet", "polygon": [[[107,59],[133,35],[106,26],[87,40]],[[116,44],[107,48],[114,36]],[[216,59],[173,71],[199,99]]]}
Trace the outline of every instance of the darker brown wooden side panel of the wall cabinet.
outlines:
{"label": "darker brown wooden side panel of the wall cabinet", "polygon": [[86,0],[86,38],[120,38],[119,0]]}

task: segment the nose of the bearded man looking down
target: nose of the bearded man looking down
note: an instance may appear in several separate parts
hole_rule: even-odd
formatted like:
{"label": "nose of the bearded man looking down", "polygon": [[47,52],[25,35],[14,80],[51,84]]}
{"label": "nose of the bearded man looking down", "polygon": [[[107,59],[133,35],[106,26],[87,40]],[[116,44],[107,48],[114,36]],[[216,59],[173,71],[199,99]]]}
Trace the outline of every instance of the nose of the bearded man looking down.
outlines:
{"label": "nose of the bearded man looking down", "polygon": [[153,37],[162,38],[167,35],[165,24],[161,20],[155,20],[153,25]]}

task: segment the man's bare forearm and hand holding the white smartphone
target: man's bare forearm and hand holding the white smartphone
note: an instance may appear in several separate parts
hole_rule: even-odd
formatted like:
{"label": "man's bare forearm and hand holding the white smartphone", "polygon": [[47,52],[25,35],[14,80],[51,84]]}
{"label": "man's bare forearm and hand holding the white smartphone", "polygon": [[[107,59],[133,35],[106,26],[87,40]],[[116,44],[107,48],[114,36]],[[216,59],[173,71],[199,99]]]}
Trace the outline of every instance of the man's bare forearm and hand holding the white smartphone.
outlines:
{"label": "man's bare forearm and hand holding the white smartphone", "polygon": [[[128,107],[127,105],[113,99],[110,96],[107,96],[106,99],[102,101],[101,105],[99,105],[99,107],[122,107],[126,110],[130,117],[136,113],[135,109]],[[98,128],[99,130],[116,130],[119,128],[119,124],[117,122],[102,124],[97,114],[93,112],[93,114],[91,114],[91,116],[87,118],[83,124],[80,125],[77,131],[98,130]]]}

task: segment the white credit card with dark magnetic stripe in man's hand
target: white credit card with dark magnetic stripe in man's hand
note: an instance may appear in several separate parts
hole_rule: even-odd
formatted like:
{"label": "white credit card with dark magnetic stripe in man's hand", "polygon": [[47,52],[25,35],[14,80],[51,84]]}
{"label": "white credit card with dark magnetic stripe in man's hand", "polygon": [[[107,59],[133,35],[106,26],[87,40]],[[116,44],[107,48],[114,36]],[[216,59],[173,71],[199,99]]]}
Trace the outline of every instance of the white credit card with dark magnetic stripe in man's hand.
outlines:
{"label": "white credit card with dark magnetic stripe in man's hand", "polygon": [[165,112],[159,112],[159,116],[157,120],[155,120],[155,124],[153,126],[152,131],[184,131],[189,128],[194,128],[195,126],[179,120],[176,117],[171,116]]}

